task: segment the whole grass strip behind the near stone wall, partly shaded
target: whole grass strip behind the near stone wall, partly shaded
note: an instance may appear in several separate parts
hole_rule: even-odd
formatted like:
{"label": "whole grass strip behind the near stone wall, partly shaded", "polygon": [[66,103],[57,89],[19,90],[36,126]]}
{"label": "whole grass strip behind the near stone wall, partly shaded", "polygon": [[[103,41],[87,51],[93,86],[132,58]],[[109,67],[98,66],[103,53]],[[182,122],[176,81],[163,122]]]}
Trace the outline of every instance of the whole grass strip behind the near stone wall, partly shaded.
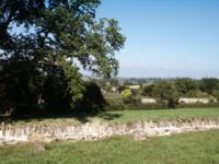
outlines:
{"label": "whole grass strip behind the near stone wall, partly shaded", "polygon": [[157,109],[157,110],[119,110],[104,112],[93,116],[74,117],[73,115],[58,116],[51,118],[31,118],[24,120],[12,120],[14,125],[27,124],[66,124],[73,125],[80,122],[107,121],[107,122],[132,122],[138,120],[176,120],[188,118],[219,118],[219,107],[217,108],[184,108],[184,109]]}

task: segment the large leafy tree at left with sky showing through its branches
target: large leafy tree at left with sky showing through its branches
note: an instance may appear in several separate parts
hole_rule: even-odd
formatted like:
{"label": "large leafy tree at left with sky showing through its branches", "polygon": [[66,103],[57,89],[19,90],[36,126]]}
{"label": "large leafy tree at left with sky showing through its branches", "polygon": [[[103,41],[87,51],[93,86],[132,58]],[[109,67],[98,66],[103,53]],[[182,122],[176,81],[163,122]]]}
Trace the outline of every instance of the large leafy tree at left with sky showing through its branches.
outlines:
{"label": "large leafy tree at left with sky showing through its branches", "polygon": [[60,97],[70,96],[73,104],[84,91],[80,67],[104,78],[117,73],[115,51],[123,48],[125,37],[116,20],[95,17],[100,3],[0,0],[0,105],[12,108],[22,103],[18,99],[25,102],[30,93],[38,93],[27,98],[34,104],[48,82],[65,84]]}

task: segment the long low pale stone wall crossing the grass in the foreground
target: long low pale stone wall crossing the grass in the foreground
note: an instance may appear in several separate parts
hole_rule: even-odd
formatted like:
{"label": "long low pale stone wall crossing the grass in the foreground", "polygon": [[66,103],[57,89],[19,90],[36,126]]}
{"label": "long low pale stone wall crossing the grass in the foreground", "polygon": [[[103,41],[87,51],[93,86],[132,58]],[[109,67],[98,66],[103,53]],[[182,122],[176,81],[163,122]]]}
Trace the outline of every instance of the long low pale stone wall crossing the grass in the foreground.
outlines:
{"label": "long low pale stone wall crossing the grass in the foreground", "polygon": [[84,124],[78,126],[0,125],[0,143],[53,140],[97,140],[112,136],[134,134],[135,138],[170,136],[181,132],[219,129],[219,119],[188,119],[177,121],[138,121],[129,124]]}

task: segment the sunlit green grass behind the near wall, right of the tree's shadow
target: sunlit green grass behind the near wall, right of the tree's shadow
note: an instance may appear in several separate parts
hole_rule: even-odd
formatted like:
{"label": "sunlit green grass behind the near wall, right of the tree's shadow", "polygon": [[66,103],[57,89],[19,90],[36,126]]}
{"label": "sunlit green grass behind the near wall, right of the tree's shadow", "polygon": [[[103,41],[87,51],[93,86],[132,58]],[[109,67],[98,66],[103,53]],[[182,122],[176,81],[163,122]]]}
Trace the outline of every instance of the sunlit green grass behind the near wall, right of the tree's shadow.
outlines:
{"label": "sunlit green grass behind the near wall, right of the tree's shadow", "polygon": [[[130,122],[137,120],[176,120],[189,119],[189,118],[219,118],[219,108],[185,108],[185,109],[158,109],[158,110],[120,110],[120,112],[111,112],[107,115],[103,115],[103,118],[112,122]],[[104,117],[105,115],[105,117]],[[112,118],[111,118],[112,115]],[[115,116],[115,117],[113,117]],[[103,119],[102,118],[102,119]]]}

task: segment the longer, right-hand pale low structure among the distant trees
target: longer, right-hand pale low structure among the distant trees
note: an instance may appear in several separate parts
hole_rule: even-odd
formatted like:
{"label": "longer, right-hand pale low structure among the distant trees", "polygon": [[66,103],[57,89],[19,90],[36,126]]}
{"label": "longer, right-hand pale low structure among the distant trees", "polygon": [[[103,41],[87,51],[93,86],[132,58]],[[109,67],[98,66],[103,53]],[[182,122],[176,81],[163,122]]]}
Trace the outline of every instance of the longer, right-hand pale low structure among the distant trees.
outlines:
{"label": "longer, right-hand pale low structure among the distant trees", "polygon": [[207,97],[180,97],[178,103],[184,104],[196,104],[196,103],[203,103],[208,104],[210,103],[210,98]]}

